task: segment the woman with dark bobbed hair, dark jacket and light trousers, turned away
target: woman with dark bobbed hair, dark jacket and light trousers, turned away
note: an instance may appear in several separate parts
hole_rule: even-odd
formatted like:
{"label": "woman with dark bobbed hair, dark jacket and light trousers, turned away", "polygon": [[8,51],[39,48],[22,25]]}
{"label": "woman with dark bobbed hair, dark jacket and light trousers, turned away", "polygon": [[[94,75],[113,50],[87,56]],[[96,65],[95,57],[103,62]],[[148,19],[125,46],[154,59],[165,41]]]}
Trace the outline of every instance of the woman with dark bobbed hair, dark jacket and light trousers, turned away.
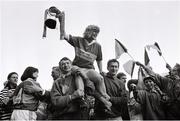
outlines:
{"label": "woman with dark bobbed hair, dark jacket and light trousers, turned away", "polygon": [[36,120],[40,100],[49,97],[49,93],[40,87],[36,81],[38,69],[27,67],[21,76],[22,82],[14,92],[13,103],[15,105],[11,120]]}

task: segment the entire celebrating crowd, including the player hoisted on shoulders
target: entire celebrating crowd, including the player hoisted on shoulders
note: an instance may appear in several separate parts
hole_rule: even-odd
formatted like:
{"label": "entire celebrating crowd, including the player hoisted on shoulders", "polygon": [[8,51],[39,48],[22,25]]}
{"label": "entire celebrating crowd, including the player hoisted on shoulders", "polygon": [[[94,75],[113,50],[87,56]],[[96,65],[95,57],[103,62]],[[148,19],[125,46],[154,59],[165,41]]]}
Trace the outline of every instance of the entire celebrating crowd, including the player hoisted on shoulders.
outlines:
{"label": "entire celebrating crowd, including the player hoisted on shoulders", "polygon": [[[62,21],[56,7],[49,12]],[[136,62],[148,74],[143,78],[144,89],[139,89],[138,79],[127,81],[124,73],[118,73],[116,59],[110,59],[108,72],[103,72],[101,45],[96,41],[99,32],[95,25],[89,25],[83,37],[63,30],[60,37],[74,47],[75,58],[63,57],[52,67],[51,90],[40,86],[35,67],[24,70],[18,85],[19,75],[9,73],[0,92],[0,120],[179,120],[180,65],[167,64],[169,75],[162,77]]]}

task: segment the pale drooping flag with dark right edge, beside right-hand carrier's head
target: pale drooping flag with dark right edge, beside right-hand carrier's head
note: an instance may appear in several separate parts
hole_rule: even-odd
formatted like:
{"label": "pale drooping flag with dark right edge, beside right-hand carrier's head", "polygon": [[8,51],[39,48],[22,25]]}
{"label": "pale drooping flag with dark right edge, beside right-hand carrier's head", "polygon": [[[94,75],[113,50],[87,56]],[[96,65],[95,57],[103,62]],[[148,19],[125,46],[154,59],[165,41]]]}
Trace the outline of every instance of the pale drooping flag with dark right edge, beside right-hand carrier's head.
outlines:
{"label": "pale drooping flag with dark right edge, beside right-hand carrier's head", "polygon": [[124,70],[132,77],[134,71],[135,62],[133,60],[127,61],[123,64]]}

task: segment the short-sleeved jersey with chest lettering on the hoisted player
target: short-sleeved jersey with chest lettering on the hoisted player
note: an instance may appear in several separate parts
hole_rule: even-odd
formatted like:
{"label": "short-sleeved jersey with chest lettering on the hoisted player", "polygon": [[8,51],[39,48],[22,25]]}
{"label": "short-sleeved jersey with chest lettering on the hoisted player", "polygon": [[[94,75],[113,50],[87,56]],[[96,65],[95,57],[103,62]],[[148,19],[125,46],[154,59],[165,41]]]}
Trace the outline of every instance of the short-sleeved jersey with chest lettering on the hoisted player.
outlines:
{"label": "short-sleeved jersey with chest lettering on the hoisted player", "polygon": [[97,42],[91,44],[82,37],[69,37],[68,42],[75,49],[75,58],[73,60],[73,65],[79,66],[81,68],[94,69],[94,61],[102,60],[102,50],[101,45]]}

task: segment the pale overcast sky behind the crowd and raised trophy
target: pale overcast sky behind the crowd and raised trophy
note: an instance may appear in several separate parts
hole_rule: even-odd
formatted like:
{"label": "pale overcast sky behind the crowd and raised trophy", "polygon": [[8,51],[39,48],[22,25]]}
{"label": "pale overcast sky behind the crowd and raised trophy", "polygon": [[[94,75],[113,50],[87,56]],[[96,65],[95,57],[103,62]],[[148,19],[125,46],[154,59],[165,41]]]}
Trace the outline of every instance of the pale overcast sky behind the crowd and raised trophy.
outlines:
{"label": "pale overcast sky behind the crowd and raised trophy", "polygon": [[[65,12],[67,34],[82,36],[88,25],[100,27],[97,41],[102,46],[104,72],[107,72],[107,61],[115,58],[115,38],[126,46],[136,61],[144,63],[144,47],[158,42],[163,57],[171,66],[180,62],[178,0],[1,0],[0,89],[13,71],[19,74],[20,83],[28,66],[39,69],[37,81],[43,88],[50,89],[52,67],[57,66],[62,57],[73,60],[74,48],[59,39],[59,28],[48,29],[47,37],[42,39],[44,11],[51,6]],[[153,70],[166,73],[162,57],[152,49],[148,54]],[[127,54],[118,59],[120,72],[124,72],[122,65],[129,59]],[[137,68],[133,78],[137,78]]]}

